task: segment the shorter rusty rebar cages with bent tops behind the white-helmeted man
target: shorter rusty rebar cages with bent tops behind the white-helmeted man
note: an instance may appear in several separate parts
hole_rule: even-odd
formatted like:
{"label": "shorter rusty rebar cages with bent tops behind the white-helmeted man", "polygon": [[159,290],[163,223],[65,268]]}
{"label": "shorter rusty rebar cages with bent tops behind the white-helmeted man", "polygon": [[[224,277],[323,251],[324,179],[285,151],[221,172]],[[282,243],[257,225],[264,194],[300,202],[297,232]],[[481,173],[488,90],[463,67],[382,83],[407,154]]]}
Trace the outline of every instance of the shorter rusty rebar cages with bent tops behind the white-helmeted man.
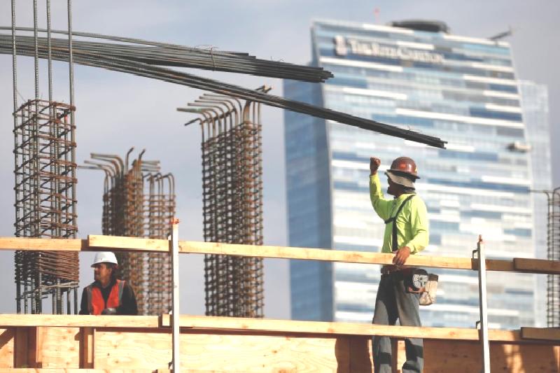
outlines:
{"label": "shorter rusty rebar cages with bent tops behind the white-helmeted man", "polygon": [[[158,161],[129,162],[118,155],[94,154],[80,168],[105,172],[103,234],[167,239],[175,214],[172,174],[159,173]],[[116,253],[120,276],[130,281],[137,295],[139,314],[167,314],[171,309],[171,258],[168,253]]]}

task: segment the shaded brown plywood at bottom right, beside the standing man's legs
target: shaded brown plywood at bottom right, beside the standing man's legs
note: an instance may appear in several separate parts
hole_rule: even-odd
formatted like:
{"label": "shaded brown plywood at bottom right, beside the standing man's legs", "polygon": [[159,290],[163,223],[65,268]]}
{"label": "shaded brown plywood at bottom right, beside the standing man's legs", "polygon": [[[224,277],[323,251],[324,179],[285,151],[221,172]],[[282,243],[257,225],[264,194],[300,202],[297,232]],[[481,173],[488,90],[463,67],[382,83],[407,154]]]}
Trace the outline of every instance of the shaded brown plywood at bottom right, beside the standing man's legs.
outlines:
{"label": "shaded brown plywood at bottom right, beside the standing man's legs", "polygon": [[[493,372],[559,372],[559,346],[491,342]],[[424,370],[430,373],[479,372],[482,352],[477,342],[424,340]]]}

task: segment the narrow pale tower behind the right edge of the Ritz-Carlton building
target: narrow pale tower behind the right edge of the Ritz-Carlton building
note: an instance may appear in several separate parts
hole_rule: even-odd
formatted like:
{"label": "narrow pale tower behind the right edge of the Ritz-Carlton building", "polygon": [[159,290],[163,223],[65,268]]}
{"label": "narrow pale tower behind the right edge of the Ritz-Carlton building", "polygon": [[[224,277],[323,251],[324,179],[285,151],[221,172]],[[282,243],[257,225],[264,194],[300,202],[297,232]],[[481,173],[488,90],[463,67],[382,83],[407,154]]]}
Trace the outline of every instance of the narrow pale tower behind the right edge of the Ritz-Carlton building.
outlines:
{"label": "narrow pale tower behind the right edge of the Ritz-Carlton building", "polygon": [[[545,192],[552,190],[552,162],[550,156],[550,125],[548,121],[548,90],[546,85],[519,80],[519,94],[523,121],[531,154],[533,169],[533,206],[535,211],[535,256],[547,259],[548,201]],[[537,276],[535,293],[535,326],[547,326],[547,275]]]}

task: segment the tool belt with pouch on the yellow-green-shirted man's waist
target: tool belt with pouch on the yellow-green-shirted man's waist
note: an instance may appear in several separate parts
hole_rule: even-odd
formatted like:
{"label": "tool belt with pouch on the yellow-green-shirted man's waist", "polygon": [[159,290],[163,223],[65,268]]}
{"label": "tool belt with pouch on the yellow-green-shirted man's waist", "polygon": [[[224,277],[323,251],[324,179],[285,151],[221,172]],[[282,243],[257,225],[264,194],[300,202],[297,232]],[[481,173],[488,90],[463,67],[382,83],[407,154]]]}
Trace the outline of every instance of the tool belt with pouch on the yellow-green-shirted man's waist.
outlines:
{"label": "tool belt with pouch on the yellow-green-shirted man's waist", "polygon": [[426,269],[396,265],[384,265],[381,267],[381,275],[387,276],[395,272],[401,272],[405,281],[407,293],[420,294],[420,305],[429,306],[435,303],[437,293],[437,274],[429,274]]}

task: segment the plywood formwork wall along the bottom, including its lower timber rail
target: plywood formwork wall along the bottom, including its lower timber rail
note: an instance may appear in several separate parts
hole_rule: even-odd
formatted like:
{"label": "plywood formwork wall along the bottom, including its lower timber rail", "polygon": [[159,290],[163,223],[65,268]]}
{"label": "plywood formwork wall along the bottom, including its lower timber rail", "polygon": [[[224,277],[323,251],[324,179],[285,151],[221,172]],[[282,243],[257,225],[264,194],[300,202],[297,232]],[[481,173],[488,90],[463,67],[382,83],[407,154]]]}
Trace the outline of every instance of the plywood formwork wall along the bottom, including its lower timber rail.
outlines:
{"label": "plywood formwork wall along the bottom, including its lower timber rail", "polygon": [[[172,334],[163,316],[0,316],[0,367],[10,372],[169,370]],[[491,330],[491,368],[559,372],[560,342],[549,330]],[[181,370],[186,372],[372,372],[370,335],[424,337],[424,372],[478,372],[478,332],[358,323],[181,316]],[[20,369],[11,369],[20,368]],[[50,372],[50,371],[49,371]]]}

